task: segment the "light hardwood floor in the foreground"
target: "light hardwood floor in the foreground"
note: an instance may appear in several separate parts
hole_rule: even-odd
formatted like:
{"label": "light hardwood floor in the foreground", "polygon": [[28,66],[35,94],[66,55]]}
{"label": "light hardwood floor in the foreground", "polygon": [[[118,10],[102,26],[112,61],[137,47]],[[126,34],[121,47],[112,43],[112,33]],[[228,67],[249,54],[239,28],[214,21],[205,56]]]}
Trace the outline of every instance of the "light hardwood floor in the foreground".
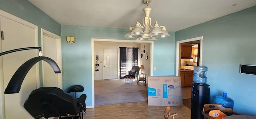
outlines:
{"label": "light hardwood floor in the foreground", "polygon": [[[84,119],[164,119],[166,106],[148,106],[147,102],[124,103],[87,108]],[[175,119],[191,119],[191,110],[187,107],[171,107],[177,112]]]}

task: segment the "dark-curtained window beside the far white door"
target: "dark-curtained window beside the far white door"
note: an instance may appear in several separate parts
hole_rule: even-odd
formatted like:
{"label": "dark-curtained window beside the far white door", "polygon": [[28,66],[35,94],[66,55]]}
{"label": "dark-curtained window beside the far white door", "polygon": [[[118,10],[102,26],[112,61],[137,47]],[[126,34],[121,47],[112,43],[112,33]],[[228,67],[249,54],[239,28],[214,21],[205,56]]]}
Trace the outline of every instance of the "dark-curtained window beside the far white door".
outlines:
{"label": "dark-curtained window beside the far white door", "polygon": [[132,66],[138,65],[139,48],[120,47],[120,79],[127,75]]}

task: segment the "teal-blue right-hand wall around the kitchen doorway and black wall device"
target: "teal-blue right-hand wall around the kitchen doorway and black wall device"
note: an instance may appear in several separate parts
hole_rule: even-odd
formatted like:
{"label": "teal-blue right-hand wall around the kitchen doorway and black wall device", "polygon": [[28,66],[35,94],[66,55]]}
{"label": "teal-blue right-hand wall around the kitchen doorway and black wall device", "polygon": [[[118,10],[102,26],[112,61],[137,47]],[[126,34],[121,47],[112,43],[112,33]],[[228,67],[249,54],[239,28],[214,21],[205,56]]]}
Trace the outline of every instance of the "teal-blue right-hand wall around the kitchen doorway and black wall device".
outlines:
{"label": "teal-blue right-hand wall around the kitchen doorway and black wall device", "polygon": [[256,6],[175,33],[175,41],[203,36],[202,65],[208,67],[210,102],[227,92],[234,111],[256,115],[256,76],[240,64],[256,65]]}

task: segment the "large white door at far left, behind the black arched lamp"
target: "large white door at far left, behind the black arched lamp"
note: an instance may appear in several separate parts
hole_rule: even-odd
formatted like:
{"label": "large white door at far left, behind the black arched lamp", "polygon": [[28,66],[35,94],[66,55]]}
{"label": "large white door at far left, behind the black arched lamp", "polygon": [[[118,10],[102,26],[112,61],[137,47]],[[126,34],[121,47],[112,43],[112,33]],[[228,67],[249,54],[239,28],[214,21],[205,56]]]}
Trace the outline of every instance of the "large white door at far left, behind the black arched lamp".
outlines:
{"label": "large white door at far left, behind the black arched lamp", "polygon": [[[18,48],[38,46],[38,38],[36,38],[38,36],[37,26],[25,22],[24,20],[22,20],[22,22],[24,23],[18,23],[0,16],[0,29],[1,31],[4,31],[4,40],[0,41],[0,49],[2,52]],[[30,26],[24,24],[30,24]],[[37,56],[38,50],[25,50],[2,55],[2,57],[0,57],[2,60],[2,62],[0,62],[2,63],[0,72],[3,74],[3,76],[0,77],[1,104],[3,106],[1,107],[3,109],[1,119],[33,119],[33,117],[24,109],[23,104],[30,92],[39,87],[38,63],[29,70],[24,78],[19,93],[4,94],[4,90],[14,72],[16,72],[24,62]],[[2,99],[2,96],[4,99]]]}

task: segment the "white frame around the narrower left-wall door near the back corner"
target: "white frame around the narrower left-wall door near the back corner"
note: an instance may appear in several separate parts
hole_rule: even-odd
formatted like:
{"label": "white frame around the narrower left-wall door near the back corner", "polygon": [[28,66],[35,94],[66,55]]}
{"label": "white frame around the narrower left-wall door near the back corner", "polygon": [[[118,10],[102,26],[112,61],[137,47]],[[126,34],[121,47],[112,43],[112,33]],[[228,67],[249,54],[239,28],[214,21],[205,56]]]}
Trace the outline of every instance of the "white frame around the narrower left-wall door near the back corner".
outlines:
{"label": "white frame around the narrower left-wall door near the back corner", "polygon": [[[62,51],[61,51],[61,37],[59,35],[56,35],[50,31],[47,31],[43,28],[41,28],[41,46],[43,47],[44,46],[44,43],[43,43],[43,35],[46,35],[48,37],[52,37],[56,40],[56,50],[57,50],[57,54],[56,54],[56,57],[57,57],[57,60],[55,61],[60,70],[62,70]],[[44,53],[42,53],[42,55],[44,55]],[[44,74],[44,63],[46,62],[42,62],[42,74]],[[58,88],[62,89],[62,74],[56,74],[57,75],[57,81],[58,81]],[[44,84],[44,75],[42,75],[42,82]],[[42,84],[42,85],[43,85]]]}

